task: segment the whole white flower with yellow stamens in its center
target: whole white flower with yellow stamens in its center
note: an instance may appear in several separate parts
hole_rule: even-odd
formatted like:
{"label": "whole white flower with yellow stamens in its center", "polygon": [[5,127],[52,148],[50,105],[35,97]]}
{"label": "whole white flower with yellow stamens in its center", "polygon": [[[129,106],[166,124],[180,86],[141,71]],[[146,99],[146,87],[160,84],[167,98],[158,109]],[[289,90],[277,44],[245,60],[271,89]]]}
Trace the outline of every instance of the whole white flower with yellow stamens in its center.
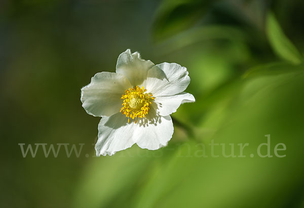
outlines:
{"label": "whole white flower with yellow stamens in its center", "polygon": [[187,69],[177,63],[155,65],[126,50],[118,57],[116,73],[97,73],[81,89],[88,114],[102,117],[98,125],[97,156],[113,155],[137,144],[157,150],[173,134],[170,114],[184,102],[190,83]]}

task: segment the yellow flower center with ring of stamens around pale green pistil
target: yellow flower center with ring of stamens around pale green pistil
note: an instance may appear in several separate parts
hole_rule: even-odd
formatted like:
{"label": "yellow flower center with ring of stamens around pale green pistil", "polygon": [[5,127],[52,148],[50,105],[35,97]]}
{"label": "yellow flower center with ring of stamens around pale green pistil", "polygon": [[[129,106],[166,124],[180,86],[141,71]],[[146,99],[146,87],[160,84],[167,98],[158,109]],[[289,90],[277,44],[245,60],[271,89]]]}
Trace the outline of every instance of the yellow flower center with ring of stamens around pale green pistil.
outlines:
{"label": "yellow flower center with ring of stamens around pale green pistil", "polygon": [[122,95],[124,102],[120,112],[126,115],[128,123],[130,118],[135,118],[136,123],[137,118],[143,118],[149,112],[150,99],[154,99],[154,97],[152,94],[145,93],[145,91],[147,90],[143,87],[136,86],[127,89],[126,93]]}

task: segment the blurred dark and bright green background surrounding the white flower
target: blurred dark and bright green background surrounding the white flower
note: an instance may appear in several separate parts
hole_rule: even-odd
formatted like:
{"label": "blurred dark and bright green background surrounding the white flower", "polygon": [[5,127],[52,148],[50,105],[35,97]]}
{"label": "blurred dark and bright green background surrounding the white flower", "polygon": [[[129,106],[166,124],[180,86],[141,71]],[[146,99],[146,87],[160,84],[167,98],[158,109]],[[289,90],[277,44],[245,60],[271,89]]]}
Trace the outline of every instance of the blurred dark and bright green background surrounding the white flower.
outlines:
{"label": "blurred dark and bright green background surrounding the white flower", "polygon": [[[304,207],[303,21],[295,0],[2,0],[0,207]],[[187,67],[197,101],[168,147],[97,158],[80,89],[128,48]],[[286,157],[256,156],[266,134]],[[212,158],[212,140],[246,157]]]}

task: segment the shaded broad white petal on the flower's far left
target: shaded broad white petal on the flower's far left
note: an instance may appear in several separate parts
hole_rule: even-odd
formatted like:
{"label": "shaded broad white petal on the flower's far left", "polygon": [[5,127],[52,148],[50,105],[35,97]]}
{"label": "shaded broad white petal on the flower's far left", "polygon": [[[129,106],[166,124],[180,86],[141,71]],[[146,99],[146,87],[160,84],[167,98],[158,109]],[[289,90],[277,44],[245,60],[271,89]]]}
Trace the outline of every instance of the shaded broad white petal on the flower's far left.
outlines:
{"label": "shaded broad white petal on the flower's far left", "polygon": [[129,80],[121,74],[97,73],[91,83],[81,89],[83,107],[93,116],[111,116],[120,111],[121,97],[130,87]]}

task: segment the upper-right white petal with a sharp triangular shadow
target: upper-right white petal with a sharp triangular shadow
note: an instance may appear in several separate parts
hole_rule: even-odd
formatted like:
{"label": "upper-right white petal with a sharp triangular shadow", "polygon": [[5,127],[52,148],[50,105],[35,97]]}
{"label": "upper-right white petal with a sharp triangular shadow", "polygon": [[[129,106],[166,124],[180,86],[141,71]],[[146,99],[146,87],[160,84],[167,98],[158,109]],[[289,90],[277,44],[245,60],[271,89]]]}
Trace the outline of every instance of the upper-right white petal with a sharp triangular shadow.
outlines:
{"label": "upper-right white petal with a sharp triangular shadow", "polygon": [[175,95],[190,83],[187,69],[177,63],[161,63],[148,71],[147,92],[154,96]]}

